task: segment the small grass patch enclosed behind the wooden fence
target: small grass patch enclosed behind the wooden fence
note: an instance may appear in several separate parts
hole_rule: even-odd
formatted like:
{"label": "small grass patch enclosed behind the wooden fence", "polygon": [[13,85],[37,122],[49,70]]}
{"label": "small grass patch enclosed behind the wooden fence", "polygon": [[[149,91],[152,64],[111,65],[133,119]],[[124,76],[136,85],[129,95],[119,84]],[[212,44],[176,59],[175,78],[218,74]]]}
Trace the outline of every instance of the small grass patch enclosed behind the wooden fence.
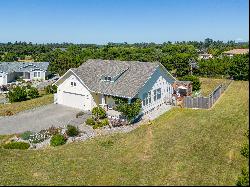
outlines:
{"label": "small grass patch enclosed behind the wooden fence", "polygon": [[229,79],[210,79],[200,78],[201,81],[201,95],[208,96],[214,89],[222,83],[229,83]]}

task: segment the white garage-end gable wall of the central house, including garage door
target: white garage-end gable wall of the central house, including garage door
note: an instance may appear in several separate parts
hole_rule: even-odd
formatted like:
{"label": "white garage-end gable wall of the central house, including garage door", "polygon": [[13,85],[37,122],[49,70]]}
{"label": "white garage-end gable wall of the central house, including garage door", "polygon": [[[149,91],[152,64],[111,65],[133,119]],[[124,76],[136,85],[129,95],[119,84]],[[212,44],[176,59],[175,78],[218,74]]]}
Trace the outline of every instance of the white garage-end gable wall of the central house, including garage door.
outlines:
{"label": "white garage-end gable wall of the central house, including garage door", "polygon": [[58,86],[57,103],[81,110],[91,110],[94,99],[80,80],[75,75],[71,75]]}

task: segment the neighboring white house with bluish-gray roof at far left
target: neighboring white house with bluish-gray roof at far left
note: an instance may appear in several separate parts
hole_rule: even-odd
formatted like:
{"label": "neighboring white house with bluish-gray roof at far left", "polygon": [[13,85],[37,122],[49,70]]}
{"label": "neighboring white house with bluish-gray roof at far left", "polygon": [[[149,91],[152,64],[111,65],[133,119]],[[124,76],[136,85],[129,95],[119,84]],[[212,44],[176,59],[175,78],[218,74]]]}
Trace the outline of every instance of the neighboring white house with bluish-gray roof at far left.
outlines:
{"label": "neighboring white house with bluish-gray roof at far left", "polygon": [[49,75],[48,66],[49,62],[0,62],[0,86],[19,77],[24,80],[45,80]]}

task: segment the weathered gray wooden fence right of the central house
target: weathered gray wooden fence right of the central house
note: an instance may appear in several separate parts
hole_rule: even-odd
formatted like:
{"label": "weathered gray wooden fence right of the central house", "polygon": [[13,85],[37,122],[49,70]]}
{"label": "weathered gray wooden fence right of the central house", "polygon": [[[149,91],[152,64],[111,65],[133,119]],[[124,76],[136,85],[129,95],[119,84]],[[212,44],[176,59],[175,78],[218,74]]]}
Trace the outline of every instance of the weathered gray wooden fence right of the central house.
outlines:
{"label": "weathered gray wooden fence right of the central house", "polygon": [[199,97],[192,97],[186,96],[183,100],[183,107],[184,108],[202,108],[202,109],[209,109],[213,106],[213,104],[219,99],[221,94],[227,89],[227,87],[231,84],[232,81],[229,83],[223,83],[217,86],[214,91],[208,96],[199,96]]}

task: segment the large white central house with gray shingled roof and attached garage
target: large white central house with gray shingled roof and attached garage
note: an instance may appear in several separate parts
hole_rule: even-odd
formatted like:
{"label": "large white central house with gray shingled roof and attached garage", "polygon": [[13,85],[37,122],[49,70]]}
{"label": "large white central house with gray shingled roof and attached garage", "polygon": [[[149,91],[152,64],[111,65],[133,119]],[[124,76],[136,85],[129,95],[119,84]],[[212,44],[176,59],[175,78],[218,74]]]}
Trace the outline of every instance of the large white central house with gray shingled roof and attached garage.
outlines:
{"label": "large white central house with gray shingled roof and attached garage", "polygon": [[88,60],[69,69],[54,84],[58,86],[55,103],[92,110],[115,106],[114,97],[142,100],[142,113],[171,101],[175,78],[153,62]]}

